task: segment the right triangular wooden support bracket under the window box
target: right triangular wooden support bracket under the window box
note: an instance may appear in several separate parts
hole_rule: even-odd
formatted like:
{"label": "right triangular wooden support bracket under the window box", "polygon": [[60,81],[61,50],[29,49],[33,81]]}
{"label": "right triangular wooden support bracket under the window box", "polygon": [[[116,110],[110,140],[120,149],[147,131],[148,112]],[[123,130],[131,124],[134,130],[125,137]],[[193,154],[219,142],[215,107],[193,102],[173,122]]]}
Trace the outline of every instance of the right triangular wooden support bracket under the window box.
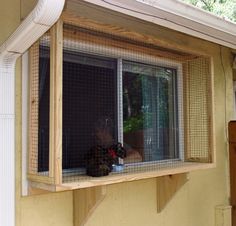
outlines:
{"label": "right triangular wooden support bracket under the window box", "polygon": [[160,213],[175,193],[188,181],[187,173],[158,177],[157,212]]}

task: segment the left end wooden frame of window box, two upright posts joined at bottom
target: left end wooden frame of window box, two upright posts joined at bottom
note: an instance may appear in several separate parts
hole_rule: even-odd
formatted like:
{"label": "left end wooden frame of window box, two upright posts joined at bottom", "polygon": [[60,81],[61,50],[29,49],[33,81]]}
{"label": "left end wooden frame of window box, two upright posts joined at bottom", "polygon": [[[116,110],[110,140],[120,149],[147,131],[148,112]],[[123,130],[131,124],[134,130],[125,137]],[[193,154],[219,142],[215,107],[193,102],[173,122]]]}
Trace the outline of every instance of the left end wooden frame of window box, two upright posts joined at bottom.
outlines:
{"label": "left end wooden frame of window box, two upright posts joined at bottom", "polygon": [[[39,42],[29,51],[29,160],[28,179],[38,183],[62,183],[62,21],[59,20],[50,31],[50,131],[49,131],[49,172],[38,174],[38,86],[39,86]],[[35,57],[36,56],[36,57]],[[34,63],[34,64],[33,64]],[[34,65],[34,67],[33,67]],[[34,90],[32,87],[36,87]],[[32,134],[36,145],[32,145]],[[32,164],[32,162],[34,162]],[[34,165],[34,167],[32,167]]]}

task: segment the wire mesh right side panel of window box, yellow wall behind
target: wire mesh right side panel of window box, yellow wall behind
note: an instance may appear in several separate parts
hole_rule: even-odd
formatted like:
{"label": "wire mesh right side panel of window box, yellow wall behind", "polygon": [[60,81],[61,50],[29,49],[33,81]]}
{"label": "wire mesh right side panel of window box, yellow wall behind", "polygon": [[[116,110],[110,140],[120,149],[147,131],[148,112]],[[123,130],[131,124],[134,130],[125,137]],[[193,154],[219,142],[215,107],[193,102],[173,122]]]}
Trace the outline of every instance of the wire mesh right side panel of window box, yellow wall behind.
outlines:
{"label": "wire mesh right side panel of window box, yellow wall behind", "polygon": [[209,58],[185,65],[186,160],[211,162],[211,72]]}

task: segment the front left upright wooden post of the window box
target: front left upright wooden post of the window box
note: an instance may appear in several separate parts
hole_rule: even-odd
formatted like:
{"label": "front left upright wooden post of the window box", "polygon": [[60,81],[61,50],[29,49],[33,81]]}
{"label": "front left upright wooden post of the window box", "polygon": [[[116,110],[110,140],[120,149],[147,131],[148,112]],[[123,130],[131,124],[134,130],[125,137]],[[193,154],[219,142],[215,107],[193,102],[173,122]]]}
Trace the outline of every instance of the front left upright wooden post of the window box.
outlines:
{"label": "front left upright wooden post of the window box", "polygon": [[49,175],[62,183],[62,52],[63,22],[51,29],[50,45],[50,143]]}

